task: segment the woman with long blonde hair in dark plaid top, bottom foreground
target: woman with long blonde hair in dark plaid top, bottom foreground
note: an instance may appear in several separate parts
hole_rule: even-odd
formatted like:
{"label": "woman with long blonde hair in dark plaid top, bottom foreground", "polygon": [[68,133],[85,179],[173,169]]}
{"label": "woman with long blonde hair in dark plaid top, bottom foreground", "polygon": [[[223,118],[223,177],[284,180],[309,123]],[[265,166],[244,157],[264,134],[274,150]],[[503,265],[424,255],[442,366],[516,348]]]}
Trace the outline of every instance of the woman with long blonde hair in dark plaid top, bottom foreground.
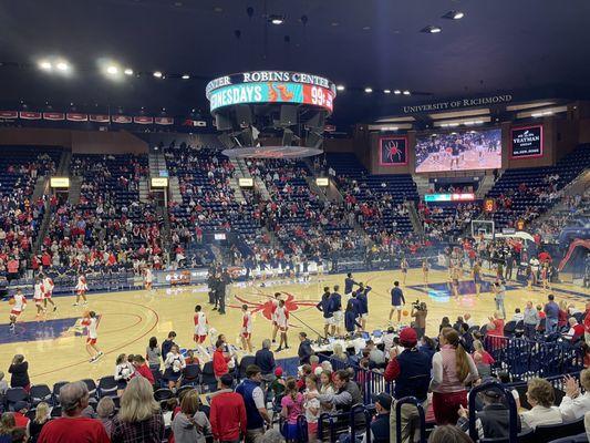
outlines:
{"label": "woman with long blonde hair in dark plaid top, bottom foreground", "polygon": [[152,384],[133,378],[121,396],[121,409],[113,421],[112,443],[156,443],[164,440],[164,415],[154,400]]}

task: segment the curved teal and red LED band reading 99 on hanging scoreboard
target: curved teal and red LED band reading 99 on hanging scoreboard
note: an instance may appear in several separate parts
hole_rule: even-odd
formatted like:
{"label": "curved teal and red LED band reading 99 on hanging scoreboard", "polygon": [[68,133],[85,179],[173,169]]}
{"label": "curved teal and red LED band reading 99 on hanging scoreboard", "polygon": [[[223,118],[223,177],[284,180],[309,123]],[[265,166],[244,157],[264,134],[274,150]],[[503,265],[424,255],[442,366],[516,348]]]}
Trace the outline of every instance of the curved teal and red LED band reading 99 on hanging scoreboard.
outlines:
{"label": "curved teal and red LED band reading 99 on hanging scoreboard", "polygon": [[333,109],[334,94],[327,87],[291,83],[242,83],[220,87],[210,93],[210,111],[237,104],[293,103]]}

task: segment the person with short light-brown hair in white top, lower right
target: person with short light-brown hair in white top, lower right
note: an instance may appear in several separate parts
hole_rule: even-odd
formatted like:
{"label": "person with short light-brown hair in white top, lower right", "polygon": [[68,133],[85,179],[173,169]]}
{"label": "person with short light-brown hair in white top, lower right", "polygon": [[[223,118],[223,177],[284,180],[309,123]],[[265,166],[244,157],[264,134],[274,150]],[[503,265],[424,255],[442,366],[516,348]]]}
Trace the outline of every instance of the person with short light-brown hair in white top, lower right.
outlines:
{"label": "person with short light-brown hair in white top, lower right", "polygon": [[535,378],[528,381],[527,387],[527,401],[532,408],[520,414],[522,423],[532,429],[539,424],[561,424],[561,411],[552,405],[556,395],[551,383]]}

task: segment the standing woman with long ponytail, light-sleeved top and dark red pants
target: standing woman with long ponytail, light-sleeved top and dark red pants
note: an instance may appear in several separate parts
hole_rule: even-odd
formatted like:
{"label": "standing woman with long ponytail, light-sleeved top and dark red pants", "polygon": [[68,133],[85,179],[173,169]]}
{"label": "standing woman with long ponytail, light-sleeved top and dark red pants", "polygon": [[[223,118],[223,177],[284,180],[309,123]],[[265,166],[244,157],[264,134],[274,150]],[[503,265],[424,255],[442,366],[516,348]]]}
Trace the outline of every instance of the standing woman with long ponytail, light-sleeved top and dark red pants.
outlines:
{"label": "standing woman with long ponytail, light-sleeved top and dark red pants", "polygon": [[436,424],[456,424],[459,406],[467,406],[466,385],[479,378],[475,362],[453,328],[438,336],[441,350],[433,356],[433,410]]}

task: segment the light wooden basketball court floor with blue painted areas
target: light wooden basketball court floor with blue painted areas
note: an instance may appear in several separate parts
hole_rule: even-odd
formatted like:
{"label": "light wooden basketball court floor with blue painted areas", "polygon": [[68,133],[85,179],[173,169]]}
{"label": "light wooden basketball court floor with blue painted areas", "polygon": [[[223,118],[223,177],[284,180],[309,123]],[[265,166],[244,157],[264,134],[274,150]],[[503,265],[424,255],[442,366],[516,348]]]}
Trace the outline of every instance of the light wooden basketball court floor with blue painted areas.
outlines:
{"label": "light wooden basketball court floor with blue painted areas", "polygon": [[[405,284],[404,293],[410,302],[420,299],[428,305],[426,333],[435,336],[443,316],[448,316],[453,321],[457,316],[470,312],[478,323],[484,323],[493,313],[494,296],[483,292],[476,297],[473,284],[467,281],[467,276],[462,279],[460,297],[455,299],[448,296],[446,271],[431,270],[429,285],[425,286],[422,271],[411,269]],[[363,281],[373,290],[369,295],[370,317],[368,330],[387,327],[390,313],[390,289],[394,279],[401,280],[398,271],[374,271],[354,274],[356,281]],[[465,281],[464,281],[465,280]],[[29,361],[31,382],[52,384],[61,380],[80,380],[83,378],[99,379],[112,374],[115,359],[120,353],[143,353],[152,336],[157,337],[161,343],[168,331],[177,333],[176,342],[184,348],[193,347],[193,315],[195,305],[201,305],[207,313],[209,324],[218,332],[226,334],[231,343],[239,343],[241,327],[241,305],[247,303],[253,312],[252,344],[259,349],[262,339],[271,334],[270,297],[280,291],[291,310],[289,329],[289,344],[291,349],[276,354],[276,358],[292,357],[297,354],[298,332],[307,331],[310,338],[315,339],[322,331],[323,321],[321,313],[315,309],[324,286],[340,285],[341,292],[344,287],[344,275],[330,275],[311,277],[309,284],[293,281],[267,281],[263,287],[260,282],[253,285],[238,284],[232,287],[228,300],[227,315],[220,316],[211,311],[207,303],[205,287],[185,287],[177,289],[158,289],[157,291],[130,291],[89,295],[87,307],[74,307],[75,297],[55,297],[56,312],[49,313],[44,321],[35,319],[35,308],[32,300],[19,319],[15,332],[8,329],[10,306],[2,303],[2,318],[0,324],[0,369],[7,372],[15,353],[22,353]],[[547,299],[547,292],[536,289],[527,290],[519,284],[509,282],[506,296],[506,310],[508,318],[514,309],[524,308],[526,301],[541,303]],[[584,309],[586,297],[590,296],[588,289],[558,285],[552,291],[557,301],[566,299],[580,310]],[[85,337],[77,327],[84,310],[94,310],[101,316],[99,324],[99,347],[104,351],[104,357],[97,362],[90,363],[84,349]],[[407,323],[408,317],[402,322]],[[275,348],[273,348],[275,349]],[[9,379],[9,374],[7,373]]]}

